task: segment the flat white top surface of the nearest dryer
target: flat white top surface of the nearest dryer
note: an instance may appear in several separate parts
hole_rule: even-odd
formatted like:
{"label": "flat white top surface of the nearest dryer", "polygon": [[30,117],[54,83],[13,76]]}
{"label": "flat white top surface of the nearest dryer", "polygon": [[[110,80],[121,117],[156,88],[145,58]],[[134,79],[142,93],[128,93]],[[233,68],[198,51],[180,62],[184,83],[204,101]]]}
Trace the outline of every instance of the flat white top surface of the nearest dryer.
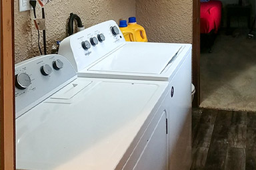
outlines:
{"label": "flat white top surface of the nearest dryer", "polygon": [[81,79],[68,103],[57,92],[16,120],[17,168],[115,169],[168,86]]}

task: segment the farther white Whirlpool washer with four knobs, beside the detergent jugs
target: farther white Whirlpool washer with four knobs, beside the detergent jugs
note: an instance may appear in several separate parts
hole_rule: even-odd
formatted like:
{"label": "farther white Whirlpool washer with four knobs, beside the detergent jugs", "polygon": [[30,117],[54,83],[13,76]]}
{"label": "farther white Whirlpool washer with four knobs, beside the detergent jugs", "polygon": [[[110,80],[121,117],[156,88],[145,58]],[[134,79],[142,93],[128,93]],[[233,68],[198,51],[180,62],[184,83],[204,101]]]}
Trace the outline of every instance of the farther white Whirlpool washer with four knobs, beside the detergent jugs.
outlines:
{"label": "farther white Whirlpool washer with four knobs, beside the detergent jugs", "polygon": [[125,42],[115,21],[64,39],[59,54],[79,77],[169,82],[169,167],[191,164],[191,44]]}

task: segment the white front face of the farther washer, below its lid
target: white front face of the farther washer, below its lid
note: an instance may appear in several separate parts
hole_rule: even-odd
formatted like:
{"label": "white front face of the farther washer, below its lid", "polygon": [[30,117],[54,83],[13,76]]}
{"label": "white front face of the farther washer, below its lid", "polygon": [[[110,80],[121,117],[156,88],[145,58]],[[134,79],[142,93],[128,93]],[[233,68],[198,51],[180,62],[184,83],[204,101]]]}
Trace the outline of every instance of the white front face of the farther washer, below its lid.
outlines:
{"label": "white front face of the farther washer, below its lid", "polygon": [[[173,97],[169,102],[169,169],[191,166],[191,57],[186,56],[170,81]],[[172,91],[172,90],[171,90]],[[171,95],[169,95],[171,96]]]}

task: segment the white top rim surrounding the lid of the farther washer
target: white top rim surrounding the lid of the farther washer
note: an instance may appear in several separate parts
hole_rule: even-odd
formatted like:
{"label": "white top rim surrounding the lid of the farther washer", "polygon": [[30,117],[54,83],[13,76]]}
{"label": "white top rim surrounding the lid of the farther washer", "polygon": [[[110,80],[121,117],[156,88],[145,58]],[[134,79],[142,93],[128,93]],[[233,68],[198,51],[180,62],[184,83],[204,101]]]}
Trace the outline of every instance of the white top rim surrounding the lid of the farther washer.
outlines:
{"label": "white top rim surrounding the lid of the farther washer", "polygon": [[[130,42],[131,44],[135,45],[135,44],[145,44],[148,46],[164,46],[167,45],[166,43],[154,43],[154,42]],[[127,42],[127,44],[129,44],[129,42]],[[169,44],[170,46],[179,46],[181,44]],[[117,49],[118,50],[118,49]],[[117,51],[115,50],[115,52]],[[114,52],[111,52],[111,55]],[[165,54],[167,54],[167,52],[165,52]],[[161,58],[161,56],[158,56],[157,54],[155,55],[155,59],[157,60],[157,58]],[[171,79],[173,78],[173,76],[175,75],[175,73],[177,72],[177,68],[179,68],[179,66],[181,66],[181,63],[183,62],[183,60],[185,60],[185,58],[189,56],[191,57],[191,44],[182,44],[182,48],[181,50],[179,50],[177,56],[171,58],[171,62],[164,68],[163,72],[161,72],[161,74],[152,74],[152,73],[147,73],[147,72],[133,72],[132,70],[130,70],[130,72],[121,72],[120,70],[122,70],[123,68],[120,68],[119,71],[106,71],[106,70],[89,70],[89,68],[91,68],[92,66],[97,66],[97,64],[101,64],[101,60],[99,60],[98,62],[95,62],[94,64],[91,64],[91,66],[77,72],[77,75],[79,77],[91,77],[91,78],[117,78],[117,79],[131,79],[131,80],[158,80],[158,81],[171,81]],[[108,55],[103,57],[103,59],[107,59]],[[119,57],[122,57],[119,55]],[[117,57],[117,58],[119,58]],[[136,56],[134,57],[136,58]],[[146,58],[146,57],[145,57]],[[126,60],[129,60],[129,57],[127,56],[125,58]],[[108,60],[108,59],[107,59]],[[119,62],[119,59],[117,59]],[[111,60],[112,61],[112,60]],[[113,60],[113,63],[115,62],[115,60]],[[123,62],[120,60],[120,62]],[[110,65],[111,62],[107,63],[106,65]],[[137,70],[143,68],[143,64],[139,64],[136,63],[135,65],[137,65]],[[140,66],[139,66],[140,65]],[[103,64],[101,64],[101,66],[105,66]],[[125,63],[123,63],[124,68],[129,69],[129,66],[126,65]],[[115,66],[117,67],[117,66]],[[131,66],[132,67],[132,66]],[[149,68],[151,69],[151,68]],[[153,66],[152,69],[159,69],[159,67],[157,66]],[[159,69],[161,70],[161,69]],[[191,72],[189,73],[191,74]]]}

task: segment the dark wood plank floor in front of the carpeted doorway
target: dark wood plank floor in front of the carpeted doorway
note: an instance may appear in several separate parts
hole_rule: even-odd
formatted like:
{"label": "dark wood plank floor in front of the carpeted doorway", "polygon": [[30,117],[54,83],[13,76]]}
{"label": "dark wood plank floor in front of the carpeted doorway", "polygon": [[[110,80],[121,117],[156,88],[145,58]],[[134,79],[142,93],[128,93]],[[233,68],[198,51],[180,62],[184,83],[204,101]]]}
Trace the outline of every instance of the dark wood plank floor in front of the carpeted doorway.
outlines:
{"label": "dark wood plank floor in front of the carpeted doorway", "polygon": [[256,113],[193,109],[191,170],[255,170]]}

